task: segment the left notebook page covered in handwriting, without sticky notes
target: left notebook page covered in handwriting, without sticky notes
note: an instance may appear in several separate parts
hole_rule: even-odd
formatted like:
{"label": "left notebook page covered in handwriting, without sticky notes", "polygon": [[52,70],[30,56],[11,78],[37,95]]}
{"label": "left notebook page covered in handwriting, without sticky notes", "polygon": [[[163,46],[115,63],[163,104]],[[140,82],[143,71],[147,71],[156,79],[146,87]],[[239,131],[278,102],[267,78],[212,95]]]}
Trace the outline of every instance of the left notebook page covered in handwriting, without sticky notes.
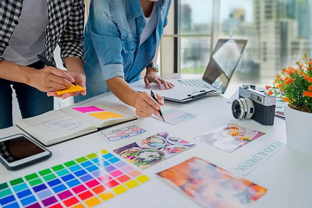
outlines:
{"label": "left notebook page covered in handwriting, without sticky notes", "polygon": [[32,135],[39,135],[46,141],[69,137],[72,134],[77,134],[93,127],[92,124],[59,110],[19,120],[17,125],[25,128],[25,131],[30,132]]}

